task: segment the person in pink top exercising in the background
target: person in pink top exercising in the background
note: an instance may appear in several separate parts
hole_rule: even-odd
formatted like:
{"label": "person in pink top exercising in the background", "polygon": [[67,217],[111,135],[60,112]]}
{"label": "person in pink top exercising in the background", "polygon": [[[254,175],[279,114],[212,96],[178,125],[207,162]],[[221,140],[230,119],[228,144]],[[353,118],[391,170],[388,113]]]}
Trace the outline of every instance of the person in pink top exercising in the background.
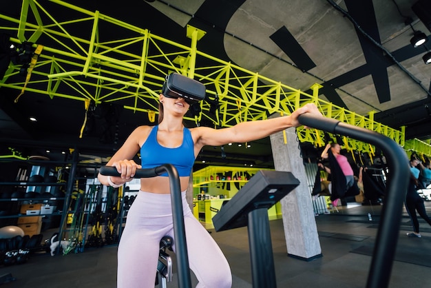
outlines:
{"label": "person in pink top exercising in the background", "polygon": [[330,200],[331,200],[331,204],[333,205],[333,207],[337,207],[337,205],[338,205],[339,198],[337,197],[337,195],[338,194],[344,195],[346,193],[346,191],[348,189],[350,189],[350,187],[353,187],[353,185],[355,185],[355,178],[353,176],[353,169],[350,166],[350,163],[348,163],[347,157],[344,155],[341,155],[340,151],[341,151],[341,147],[339,146],[338,143],[328,143],[326,145],[324,151],[320,155],[322,158],[327,159],[327,158],[329,158],[328,153],[333,154],[333,156],[337,160],[339,167],[341,168],[342,173],[346,177],[346,187],[341,188],[344,191],[342,191],[342,192],[340,191],[341,193],[340,192],[334,193],[334,190],[338,189],[338,187],[336,187],[336,185],[334,185],[334,177],[335,176],[331,174],[331,168],[330,167],[327,167],[327,166],[323,165],[322,163],[319,163],[319,167],[322,167],[326,172],[331,174],[332,188],[331,188]]}

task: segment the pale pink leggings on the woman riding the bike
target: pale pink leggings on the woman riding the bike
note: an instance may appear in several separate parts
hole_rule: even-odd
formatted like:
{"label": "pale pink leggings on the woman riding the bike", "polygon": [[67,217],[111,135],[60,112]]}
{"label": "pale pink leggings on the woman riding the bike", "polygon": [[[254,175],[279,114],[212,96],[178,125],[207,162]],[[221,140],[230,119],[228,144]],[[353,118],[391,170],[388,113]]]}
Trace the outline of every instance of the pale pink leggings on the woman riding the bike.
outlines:
{"label": "pale pink leggings on the woman riding the bike", "polygon": [[[174,238],[171,209],[170,194],[138,193],[118,245],[118,288],[154,288],[160,239],[166,235]],[[199,281],[196,287],[231,287],[229,263],[191,213],[185,192],[182,192],[182,209],[189,267]],[[175,251],[175,239],[173,248]]]}

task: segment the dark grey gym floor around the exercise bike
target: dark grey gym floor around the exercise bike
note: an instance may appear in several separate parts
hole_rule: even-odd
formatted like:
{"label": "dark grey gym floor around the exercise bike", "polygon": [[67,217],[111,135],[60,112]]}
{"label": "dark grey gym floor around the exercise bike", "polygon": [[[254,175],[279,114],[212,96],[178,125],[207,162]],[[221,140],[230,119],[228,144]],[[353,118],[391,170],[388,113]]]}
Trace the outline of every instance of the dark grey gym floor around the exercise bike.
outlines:
{"label": "dark grey gym floor around the exercise bike", "polygon": [[[425,202],[431,215],[431,202]],[[277,287],[366,287],[372,247],[377,236],[381,206],[348,205],[339,212],[316,216],[322,257],[312,261],[287,256],[281,219],[271,220],[271,238]],[[372,220],[368,220],[368,213]],[[410,218],[403,211],[397,252],[388,287],[431,287],[431,227],[420,220],[422,238],[408,238]],[[229,260],[233,287],[252,287],[246,227],[215,232],[207,227]],[[201,247],[200,249],[205,249]],[[175,256],[174,266],[175,266]],[[209,260],[211,269],[211,260]],[[390,263],[388,263],[390,265]],[[27,263],[1,267],[16,280],[2,287],[94,288],[116,287],[116,245],[88,248],[81,254],[33,254]],[[193,287],[196,278],[191,274]],[[178,287],[174,267],[172,282]]]}

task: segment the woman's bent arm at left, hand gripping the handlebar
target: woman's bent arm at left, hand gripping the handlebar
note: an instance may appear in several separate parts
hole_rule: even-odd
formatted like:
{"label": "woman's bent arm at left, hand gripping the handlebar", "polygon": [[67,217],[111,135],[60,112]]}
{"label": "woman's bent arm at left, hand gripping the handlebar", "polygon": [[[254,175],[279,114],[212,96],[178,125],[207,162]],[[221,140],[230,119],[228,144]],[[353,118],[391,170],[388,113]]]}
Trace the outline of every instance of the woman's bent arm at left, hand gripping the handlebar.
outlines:
{"label": "woman's bent arm at left, hand gripping the handlebar", "polygon": [[136,173],[136,169],[140,169],[140,165],[136,164],[133,160],[134,156],[138,153],[140,149],[141,138],[146,137],[149,133],[148,126],[137,127],[130,135],[127,137],[125,143],[120,147],[120,149],[109,159],[107,166],[116,167],[118,173],[121,175],[110,176],[109,183],[108,176],[98,174],[98,180],[103,185],[122,185],[126,182],[132,181],[133,176]]}

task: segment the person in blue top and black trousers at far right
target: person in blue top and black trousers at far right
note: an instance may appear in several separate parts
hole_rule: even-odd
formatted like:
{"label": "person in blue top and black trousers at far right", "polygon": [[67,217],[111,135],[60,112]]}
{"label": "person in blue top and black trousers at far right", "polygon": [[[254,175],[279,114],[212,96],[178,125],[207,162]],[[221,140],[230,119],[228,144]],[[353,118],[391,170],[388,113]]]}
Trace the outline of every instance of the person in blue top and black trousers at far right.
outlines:
{"label": "person in blue top and black trousers at far right", "polygon": [[406,194],[406,210],[410,219],[412,220],[414,231],[408,233],[409,237],[420,238],[421,234],[419,233],[419,221],[417,220],[417,213],[419,216],[423,218],[429,225],[431,225],[431,219],[426,214],[425,205],[423,204],[423,198],[419,196],[417,193],[417,187],[419,185],[419,169],[417,169],[417,165],[419,164],[419,160],[415,156],[410,157],[410,181],[408,183],[407,194]]}

